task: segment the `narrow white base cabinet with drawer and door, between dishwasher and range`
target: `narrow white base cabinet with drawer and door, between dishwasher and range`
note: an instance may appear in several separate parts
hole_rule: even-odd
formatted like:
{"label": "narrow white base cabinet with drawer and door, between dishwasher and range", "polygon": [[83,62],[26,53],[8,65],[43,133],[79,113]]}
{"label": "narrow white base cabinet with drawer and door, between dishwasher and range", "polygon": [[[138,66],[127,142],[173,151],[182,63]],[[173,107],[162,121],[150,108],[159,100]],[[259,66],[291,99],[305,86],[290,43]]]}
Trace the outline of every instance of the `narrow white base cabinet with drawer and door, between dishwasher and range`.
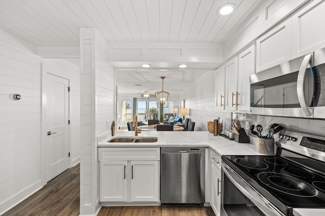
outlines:
{"label": "narrow white base cabinet with drawer and door, between dishwasher and range", "polygon": [[221,209],[221,157],[211,151],[211,198],[210,205],[216,215]]}

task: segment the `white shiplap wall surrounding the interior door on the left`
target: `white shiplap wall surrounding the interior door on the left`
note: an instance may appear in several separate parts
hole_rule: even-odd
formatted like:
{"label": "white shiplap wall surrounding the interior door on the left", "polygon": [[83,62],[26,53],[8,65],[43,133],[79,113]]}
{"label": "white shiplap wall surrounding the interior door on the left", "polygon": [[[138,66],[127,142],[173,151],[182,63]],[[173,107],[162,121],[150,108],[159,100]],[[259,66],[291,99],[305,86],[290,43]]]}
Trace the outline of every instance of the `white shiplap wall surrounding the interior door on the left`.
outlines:
{"label": "white shiplap wall surrounding the interior door on the left", "polygon": [[[79,127],[79,67],[64,60],[48,60],[30,51],[32,46],[0,29],[0,214],[43,186],[41,111],[42,64],[71,73],[75,80],[72,103]],[[14,101],[11,94],[21,95]],[[77,114],[77,115],[75,115]],[[72,136],[72,158],[79,160],[79,130]],[[71,164],[74,165],[74,164]]]}

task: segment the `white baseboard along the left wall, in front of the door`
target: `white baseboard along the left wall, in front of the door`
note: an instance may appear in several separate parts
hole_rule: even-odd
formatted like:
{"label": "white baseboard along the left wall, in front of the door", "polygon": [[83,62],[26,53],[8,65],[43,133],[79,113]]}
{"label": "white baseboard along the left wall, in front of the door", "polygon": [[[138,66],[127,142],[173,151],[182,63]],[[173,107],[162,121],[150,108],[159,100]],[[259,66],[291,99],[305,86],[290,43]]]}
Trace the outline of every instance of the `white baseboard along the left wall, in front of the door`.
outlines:
{"label": "white baseboard along the left wall, in front of the door", "polygon": [[36,183],[25,188],[24,190],[20,191],[19,193],[15,194],[14,196],[10,197],[6,201],[0,203],[0,215],[10,210],[14,206],[22,202],[24,199],[28,198],[30,195],[43,188],[43,186],[44,185],[42,184],[42,180],[39,180]]}

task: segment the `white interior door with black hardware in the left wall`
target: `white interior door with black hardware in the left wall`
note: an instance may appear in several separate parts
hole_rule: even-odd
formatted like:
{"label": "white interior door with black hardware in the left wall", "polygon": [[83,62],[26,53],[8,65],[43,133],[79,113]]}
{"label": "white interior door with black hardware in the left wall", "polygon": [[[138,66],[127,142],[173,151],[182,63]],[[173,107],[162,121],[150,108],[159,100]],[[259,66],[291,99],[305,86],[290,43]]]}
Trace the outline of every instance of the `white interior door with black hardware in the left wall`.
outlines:
{"label": "white interior door with black hardware in the left wall", "polygon": [[47,75],[47,181],[50,181],[69,168],[69,80]]}

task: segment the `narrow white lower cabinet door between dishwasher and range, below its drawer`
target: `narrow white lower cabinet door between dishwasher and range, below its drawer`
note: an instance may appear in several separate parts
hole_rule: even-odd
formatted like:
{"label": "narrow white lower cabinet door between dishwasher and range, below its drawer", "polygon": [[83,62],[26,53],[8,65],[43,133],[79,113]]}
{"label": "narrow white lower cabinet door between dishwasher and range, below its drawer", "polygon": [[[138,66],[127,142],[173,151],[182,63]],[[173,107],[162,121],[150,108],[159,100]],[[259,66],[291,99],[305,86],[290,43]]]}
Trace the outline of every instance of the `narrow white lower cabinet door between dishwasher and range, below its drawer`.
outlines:
{"label": "narrow white lower cabinet door between dishwasher and range, below its drawer", "polygon": [[221,209],[221,172],[211,163],[211,207],[216,215]]}

